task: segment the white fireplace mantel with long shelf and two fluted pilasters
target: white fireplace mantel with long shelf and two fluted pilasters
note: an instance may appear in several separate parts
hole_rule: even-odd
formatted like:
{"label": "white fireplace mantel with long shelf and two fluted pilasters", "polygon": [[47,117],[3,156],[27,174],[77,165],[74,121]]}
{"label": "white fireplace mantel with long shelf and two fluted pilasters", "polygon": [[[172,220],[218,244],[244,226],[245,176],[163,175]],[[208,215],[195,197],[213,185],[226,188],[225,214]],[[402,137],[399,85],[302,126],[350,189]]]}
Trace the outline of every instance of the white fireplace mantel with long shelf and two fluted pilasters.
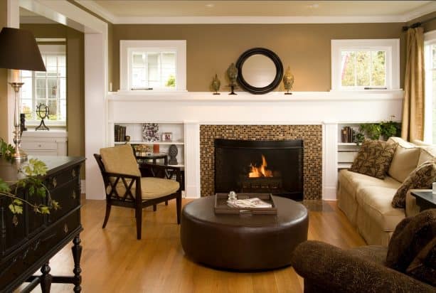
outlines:
{"label": "white fireplace mantel with long shelf and two fluted pilasters", "polygon": [[186,196],[200,196],[201,124],[321,124],[323,198],[336,198],[338,125],[400,120],[403,91],[270,92],[111,92],[107,95],[106,146],[113,125],[122,122],[185,124]]}

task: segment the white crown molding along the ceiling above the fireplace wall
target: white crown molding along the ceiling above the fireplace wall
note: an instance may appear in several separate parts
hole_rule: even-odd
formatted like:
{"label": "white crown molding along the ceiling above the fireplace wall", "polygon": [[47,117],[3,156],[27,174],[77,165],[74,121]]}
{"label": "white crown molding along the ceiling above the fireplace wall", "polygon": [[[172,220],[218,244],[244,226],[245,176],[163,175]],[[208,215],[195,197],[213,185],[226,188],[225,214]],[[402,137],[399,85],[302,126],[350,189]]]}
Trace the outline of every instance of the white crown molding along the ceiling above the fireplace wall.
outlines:
{"label": "white crown molding along the ceiling above the fireplace wall", "polygon": [[[115,16],[93,0],[75,0],[113,24],[260,24],[260,23],[405,23],[436,11],[436,2],[402,15],[388,16]],[[429,12],[430,11],[430,12]]]}

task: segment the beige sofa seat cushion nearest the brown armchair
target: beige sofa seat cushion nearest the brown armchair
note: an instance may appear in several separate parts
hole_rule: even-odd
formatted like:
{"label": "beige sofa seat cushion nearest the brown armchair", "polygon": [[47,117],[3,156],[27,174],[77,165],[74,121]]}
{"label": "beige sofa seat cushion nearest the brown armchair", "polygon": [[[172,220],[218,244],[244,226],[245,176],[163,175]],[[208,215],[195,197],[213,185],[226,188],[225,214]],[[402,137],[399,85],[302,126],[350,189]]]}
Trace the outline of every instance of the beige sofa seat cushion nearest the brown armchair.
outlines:
{"label": "beige sofa seat cushion nearest the brown armchair", "polygon": [[405,217],[404,210],[390,206],[395,188],[369,186],[358,190],[356,201],[366,215],[376,222],[381,230],[391,232]]}

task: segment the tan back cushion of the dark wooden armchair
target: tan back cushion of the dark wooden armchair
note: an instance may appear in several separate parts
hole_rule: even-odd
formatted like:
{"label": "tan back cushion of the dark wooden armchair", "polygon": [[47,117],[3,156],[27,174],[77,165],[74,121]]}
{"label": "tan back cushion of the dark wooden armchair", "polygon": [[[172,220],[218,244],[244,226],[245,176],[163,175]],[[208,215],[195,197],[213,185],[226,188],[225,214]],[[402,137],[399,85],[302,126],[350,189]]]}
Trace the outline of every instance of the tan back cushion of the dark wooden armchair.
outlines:
{"label": "tan back cushion of the dark wooden armchair", "polygon": [[141,176],[132,146],[129,144],[100,149],[100,155],[107,172]]}

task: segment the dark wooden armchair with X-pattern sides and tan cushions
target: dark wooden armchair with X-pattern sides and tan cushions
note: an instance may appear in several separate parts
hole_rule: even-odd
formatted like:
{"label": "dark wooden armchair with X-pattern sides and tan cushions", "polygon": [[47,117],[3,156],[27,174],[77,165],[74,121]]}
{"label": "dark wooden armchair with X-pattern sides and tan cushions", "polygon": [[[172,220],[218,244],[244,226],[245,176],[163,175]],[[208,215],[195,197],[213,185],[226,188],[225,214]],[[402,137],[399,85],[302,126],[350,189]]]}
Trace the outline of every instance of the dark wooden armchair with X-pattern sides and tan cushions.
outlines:
{"label": "dark wooden armchair with X-pattern sides and tan cushions", "polygon": [[[109,220],[112,206],[134,208],[137,239],[141,239],[142,208],[176,198],[177,223],[181,214],[181,171],[179,167],[140,164],[128,144],[100,149],[94,154],[100,167],[106,192],[106,214],[103,228]],[[176,180],[169,178],[176,177]]]}

